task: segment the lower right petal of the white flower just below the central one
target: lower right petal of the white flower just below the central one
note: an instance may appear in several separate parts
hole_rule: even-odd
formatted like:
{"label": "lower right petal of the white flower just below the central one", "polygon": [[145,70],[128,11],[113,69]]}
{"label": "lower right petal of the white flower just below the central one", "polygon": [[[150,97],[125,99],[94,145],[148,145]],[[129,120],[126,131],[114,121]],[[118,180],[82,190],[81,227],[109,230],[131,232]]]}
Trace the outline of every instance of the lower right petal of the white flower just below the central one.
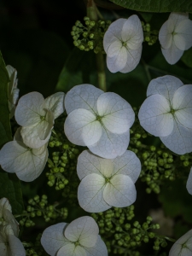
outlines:
{"label": "lower right petal of the white flower just below the central one", "polygon": [[123,174],[111,178],[103,191],[103,198],[112,207],[129,207],[136,201],[136,188],[131,180]]}

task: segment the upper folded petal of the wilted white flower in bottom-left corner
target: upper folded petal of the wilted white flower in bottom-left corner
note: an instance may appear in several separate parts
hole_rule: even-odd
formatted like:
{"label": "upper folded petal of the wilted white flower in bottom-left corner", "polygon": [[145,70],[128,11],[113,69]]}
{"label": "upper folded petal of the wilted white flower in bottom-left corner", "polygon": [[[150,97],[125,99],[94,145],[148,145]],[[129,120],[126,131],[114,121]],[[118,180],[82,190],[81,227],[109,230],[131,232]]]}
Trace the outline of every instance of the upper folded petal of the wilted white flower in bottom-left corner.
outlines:
{"label": "upper folded petal of the wilted white flower in bottom-left corner", "polygon": [[[12,214],[12,208],[9,204],[9,200],[5,197],[0,199],[0,226],[10,224],[15,232],[15,236],[19,235],[19,224],[17,223],[14,215]],[[0,254],[1,255],[1,254]]]}

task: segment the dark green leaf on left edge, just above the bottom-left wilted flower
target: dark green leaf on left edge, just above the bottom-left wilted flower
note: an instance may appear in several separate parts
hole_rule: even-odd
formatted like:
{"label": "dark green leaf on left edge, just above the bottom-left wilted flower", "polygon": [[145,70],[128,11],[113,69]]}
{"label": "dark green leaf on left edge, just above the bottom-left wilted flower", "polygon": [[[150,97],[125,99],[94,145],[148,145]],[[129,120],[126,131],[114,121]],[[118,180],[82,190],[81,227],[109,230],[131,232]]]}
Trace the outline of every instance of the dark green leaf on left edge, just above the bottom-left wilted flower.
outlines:
{"label": "dark green leaf on left edge, just above the bottom-left wilted flower", "polygon": [[15,174],[0,171],[0,198],[9,199],[14,214],[20,214],[23,209],[20,180]]}

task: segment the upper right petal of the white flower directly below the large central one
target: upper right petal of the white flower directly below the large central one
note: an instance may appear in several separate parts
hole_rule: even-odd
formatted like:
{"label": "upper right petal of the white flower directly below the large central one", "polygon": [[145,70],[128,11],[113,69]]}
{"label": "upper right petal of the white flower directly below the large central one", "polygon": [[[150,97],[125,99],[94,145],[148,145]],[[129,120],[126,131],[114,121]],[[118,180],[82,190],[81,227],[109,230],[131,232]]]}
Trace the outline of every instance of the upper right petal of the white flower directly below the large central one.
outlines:
{"label": "upper right petal of the white flower directly below the large central one", "polygon": [[130,150],[126,150],[123,155],[116,157],[113,160],[113,166],[113,175],[127,175],[131,177],[133,183],[137,181],[142,168],[141,162],[137,158],[137,155]]}

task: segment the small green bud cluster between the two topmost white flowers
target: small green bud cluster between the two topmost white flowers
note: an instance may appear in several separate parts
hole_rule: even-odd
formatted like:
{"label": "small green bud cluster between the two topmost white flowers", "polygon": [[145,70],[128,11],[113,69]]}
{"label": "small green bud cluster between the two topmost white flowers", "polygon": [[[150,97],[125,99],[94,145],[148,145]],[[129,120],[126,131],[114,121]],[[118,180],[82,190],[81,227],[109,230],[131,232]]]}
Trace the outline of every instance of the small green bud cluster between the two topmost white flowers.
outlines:
{"label": "small green bud cluster between the two topmost white flowers", "polygon": [[149,23],[144,23],[142,21],[143,32],[144,32],[144,42],[147,42],[148,45],[153,45],[156,43],[158,39],[158,31],[151,30],[151,26]]}

